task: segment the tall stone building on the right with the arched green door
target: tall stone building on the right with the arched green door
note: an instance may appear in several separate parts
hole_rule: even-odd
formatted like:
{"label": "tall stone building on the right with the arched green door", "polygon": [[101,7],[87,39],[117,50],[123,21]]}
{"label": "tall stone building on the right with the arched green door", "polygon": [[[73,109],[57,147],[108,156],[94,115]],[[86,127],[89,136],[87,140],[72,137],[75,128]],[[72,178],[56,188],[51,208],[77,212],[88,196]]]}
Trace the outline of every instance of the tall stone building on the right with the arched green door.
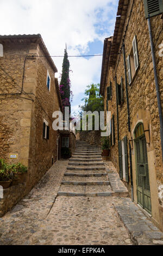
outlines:
{"label": "tall stone building on the right with the arched green door", "polygon": [[[151,23],[163,108],[162,16]],[[143,1],[120,0],[114,35],[104,40],[100,89],[111,112],[111,161],[131,198],[162,229],[161,121],[151,49]]]}

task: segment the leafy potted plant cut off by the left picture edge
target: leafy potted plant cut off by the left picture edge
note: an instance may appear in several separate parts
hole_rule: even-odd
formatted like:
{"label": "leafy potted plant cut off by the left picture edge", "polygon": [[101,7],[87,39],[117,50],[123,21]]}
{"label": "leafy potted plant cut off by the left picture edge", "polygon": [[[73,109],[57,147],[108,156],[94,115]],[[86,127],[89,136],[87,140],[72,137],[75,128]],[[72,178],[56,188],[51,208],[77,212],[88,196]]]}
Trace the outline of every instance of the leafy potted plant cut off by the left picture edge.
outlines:
{"label": "leafy potted plant cut off by the left picture edge", "polygon": [[11,184],[13,173],[8,168],[8,164],[3,159],[0,159],[0,186],[4,189]]}

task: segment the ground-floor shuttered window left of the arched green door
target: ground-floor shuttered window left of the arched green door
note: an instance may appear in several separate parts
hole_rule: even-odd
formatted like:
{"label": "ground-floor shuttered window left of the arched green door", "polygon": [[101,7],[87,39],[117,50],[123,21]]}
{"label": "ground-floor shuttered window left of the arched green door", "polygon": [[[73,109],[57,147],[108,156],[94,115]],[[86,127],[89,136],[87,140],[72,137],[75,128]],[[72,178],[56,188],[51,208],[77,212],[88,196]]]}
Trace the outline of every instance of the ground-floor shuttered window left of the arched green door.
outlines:
{"label": "ground-floor shuttered window left of the arched green door", "polygon": [[120,179],[129,182],[127,137],[118,142]]}

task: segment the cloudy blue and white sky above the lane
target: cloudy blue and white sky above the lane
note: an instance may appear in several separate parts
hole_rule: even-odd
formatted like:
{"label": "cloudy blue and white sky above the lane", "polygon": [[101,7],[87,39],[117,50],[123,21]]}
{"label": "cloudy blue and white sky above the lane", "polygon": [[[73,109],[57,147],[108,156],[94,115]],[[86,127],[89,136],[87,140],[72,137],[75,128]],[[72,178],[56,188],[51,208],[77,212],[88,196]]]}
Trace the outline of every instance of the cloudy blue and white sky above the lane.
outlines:
{"label": "cloudy blue and white sky above the lane", "polygon": [[[1,35],[41,34],[51,55],[103,53],[103,41],[114,32],[118,0],[0,0]],[[2,26],[3,25],[3,26]],[[62,58],[53,58],[60,76]],[[102,57],[70,57],[74,94],[72,112],[85,87],[99,83]]]}

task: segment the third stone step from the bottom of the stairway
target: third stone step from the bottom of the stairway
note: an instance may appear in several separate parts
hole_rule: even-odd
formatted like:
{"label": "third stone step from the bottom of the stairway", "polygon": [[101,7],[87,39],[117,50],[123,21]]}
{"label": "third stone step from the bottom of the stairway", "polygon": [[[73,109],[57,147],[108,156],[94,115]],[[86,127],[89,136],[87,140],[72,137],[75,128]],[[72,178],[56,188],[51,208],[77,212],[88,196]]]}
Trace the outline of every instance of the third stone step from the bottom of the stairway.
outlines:
{"label": "third stone step from the bottom of the stairway", "polygon": [[105,173],[105,172],[103,172],[102,173],[102,171],[101,172],[96,172],[95,173],[95,171],[94,172],[89,172],[89,174],[88,173],[84,173],[83,171],[82,172],[80,172],[80,171],[78,171],[77,173],[74,173],[74,172],[67,172],[67,173],[65,173],[65,176],[66,177],[68,177],[68,178],[70,178],[70,177],[80,177],[80,178],[84,178],[84,177],[86,177],[86,178],[91,178],[91,177],[98,177],[98,178],[104,178],[104,177],[108,177],[108,175],[107,175],[107,173]]}

